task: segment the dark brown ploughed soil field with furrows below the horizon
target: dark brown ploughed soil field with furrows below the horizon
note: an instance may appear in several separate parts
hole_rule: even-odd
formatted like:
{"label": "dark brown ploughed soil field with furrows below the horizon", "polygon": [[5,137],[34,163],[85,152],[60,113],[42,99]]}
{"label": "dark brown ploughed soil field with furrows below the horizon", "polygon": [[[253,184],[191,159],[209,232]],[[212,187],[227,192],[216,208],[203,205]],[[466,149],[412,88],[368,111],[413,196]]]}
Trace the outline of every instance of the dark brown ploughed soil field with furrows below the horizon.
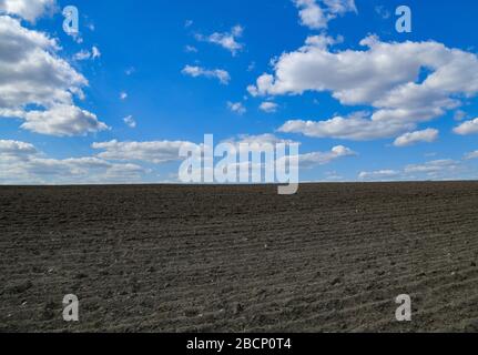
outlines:
{"label": "dark brown ploughed soil field with furrows below the horizon", "polygon": [[477,332],[477,213],[471,182],[0,187],[0,332]]}

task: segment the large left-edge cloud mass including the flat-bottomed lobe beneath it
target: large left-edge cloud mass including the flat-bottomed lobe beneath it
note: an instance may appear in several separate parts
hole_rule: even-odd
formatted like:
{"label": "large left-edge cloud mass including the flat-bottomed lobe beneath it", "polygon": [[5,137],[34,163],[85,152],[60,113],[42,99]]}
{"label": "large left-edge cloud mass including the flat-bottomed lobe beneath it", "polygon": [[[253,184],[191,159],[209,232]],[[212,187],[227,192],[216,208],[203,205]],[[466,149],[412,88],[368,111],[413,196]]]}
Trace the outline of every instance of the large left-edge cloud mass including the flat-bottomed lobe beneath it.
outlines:
{"label": "large left-edge cloud mass including the flat-bottomed lobe beneath it", "polygon": [[106,129],[74,104],[88,80],[59,58],[57,40],[0,16],[0,118],[18,118],[23,129],[75,135]]}

